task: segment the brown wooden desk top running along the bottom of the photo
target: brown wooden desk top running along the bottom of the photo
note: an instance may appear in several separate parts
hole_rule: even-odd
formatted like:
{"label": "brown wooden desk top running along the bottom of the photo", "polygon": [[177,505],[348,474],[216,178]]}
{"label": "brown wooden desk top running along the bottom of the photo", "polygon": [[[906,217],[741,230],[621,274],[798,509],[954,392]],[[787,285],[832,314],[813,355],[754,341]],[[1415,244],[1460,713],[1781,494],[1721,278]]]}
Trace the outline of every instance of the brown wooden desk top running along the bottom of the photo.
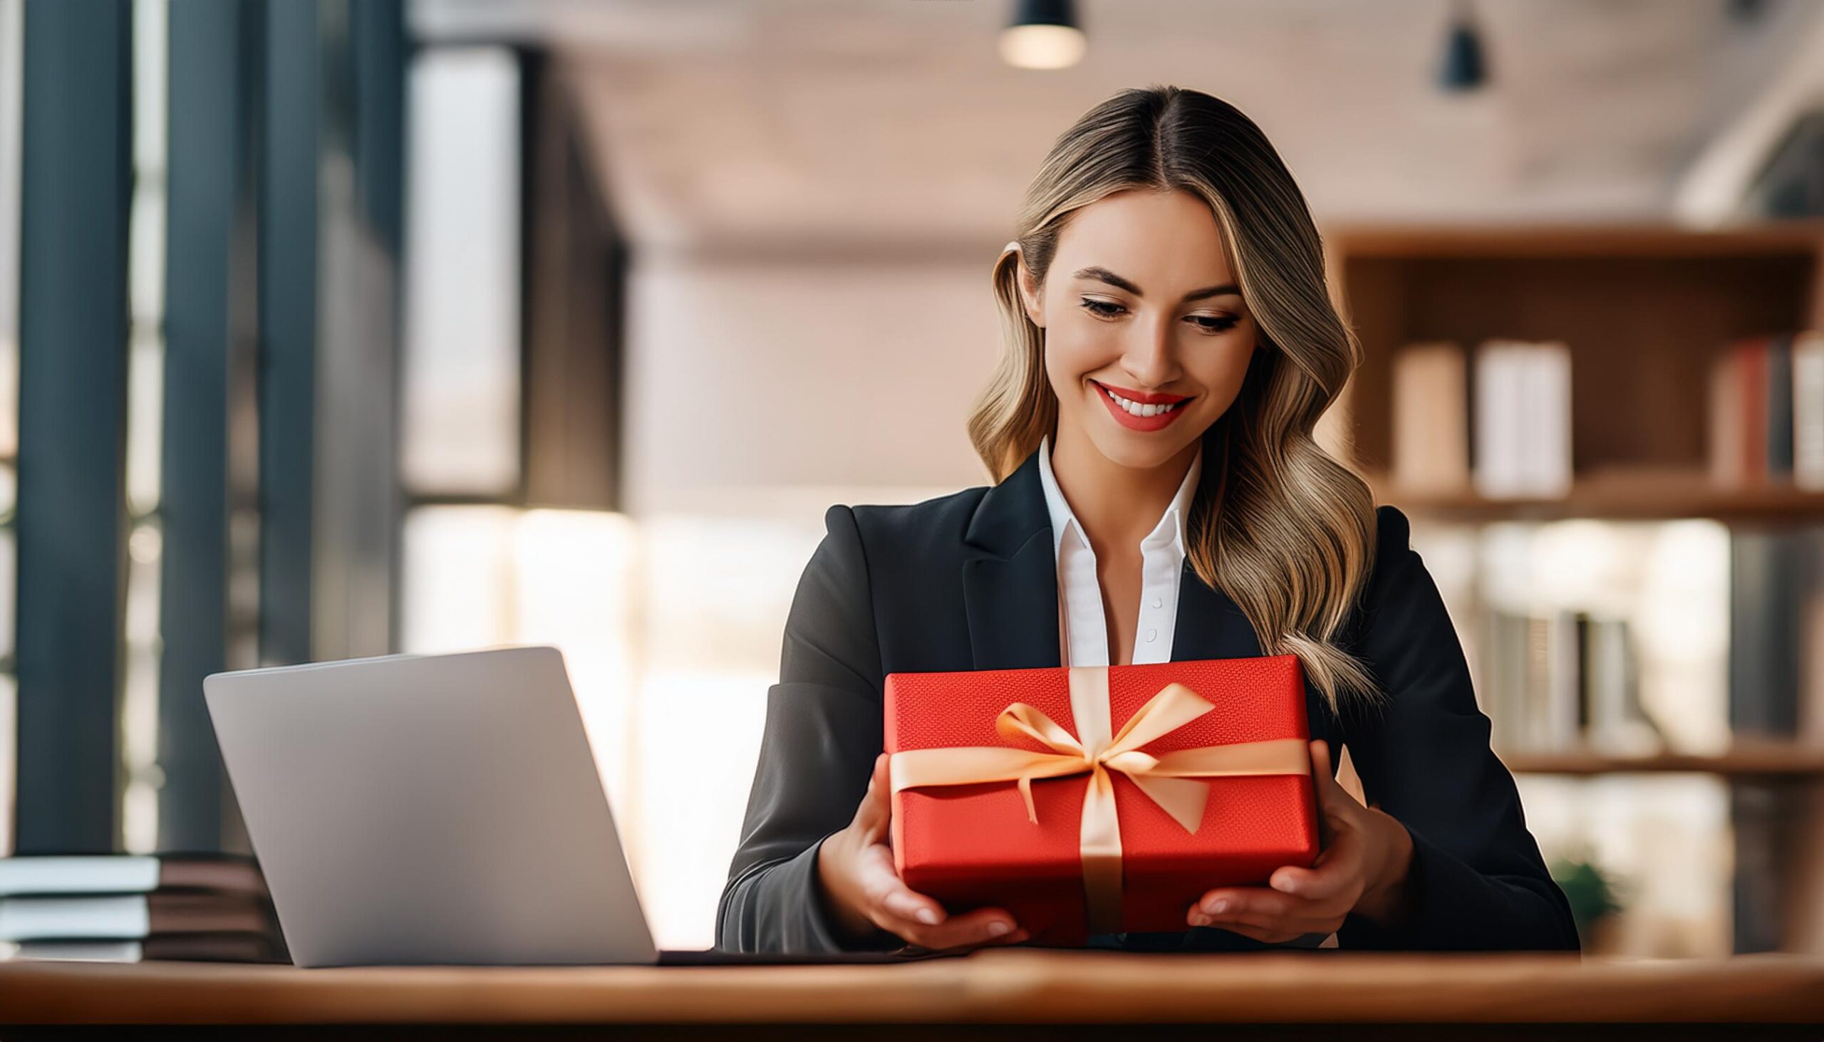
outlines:
{"label": "brown wooden desk top running along the bottom of the photo", "polygon": [[[835,1027],[806,1026],[868,1024],[870,1038],[930,1037],[941,1029],[952,1040],[1018,1038],[1027,1031],[1056,1038],[1087,1035],[1091,1024],[1145,1022],[1160,1026],[1149,1037],[1226,1022],[1370,1026],[1350,1027],[1352,1038],[1410,1038],[1414,1024],[1479,1024],[1479,1038],[1501,1037],[1487,1027],[1499,1024],[1556,1024],[1554,1038],[1572,1024],[1654,1024],[1632,1033],[1676,1038],[1700,1037],[1680,1033],[1676,1024],[1760,1022],[1784,1027],[1757,1038],[1819,1038],[1815,1027],[1800,1026],[1824,1024],[1824,958],[1578,962],[1498,953],[989,949],[886,965],[294,969],[13,962],[0,964],[0,1022],[622,1024],[673,1038],[839,1037]],[[947,1024],[952,1027],[941,1027]],[[978,1027],[954,1027],[959,1024]],[[1040,1027],[1012,1027],[1021,1024]],[[1180,1027],[1166,1027],[1173,1024]],[[1383,1027],[1383,1035],[1373,1026],[1408,1027]],[[1107,1035],[1105,1027],[1098,1031]],[[1253,1031],[1262,1033],[1288,1037],[1282,1029]],[[1209,1029],[1198,1035],[1209,1037]],[[1536,1027],[1510,1037],[1532,1035]],[[1233,1037],[1235,1029],[1224,1031],[1224,1038]]]}

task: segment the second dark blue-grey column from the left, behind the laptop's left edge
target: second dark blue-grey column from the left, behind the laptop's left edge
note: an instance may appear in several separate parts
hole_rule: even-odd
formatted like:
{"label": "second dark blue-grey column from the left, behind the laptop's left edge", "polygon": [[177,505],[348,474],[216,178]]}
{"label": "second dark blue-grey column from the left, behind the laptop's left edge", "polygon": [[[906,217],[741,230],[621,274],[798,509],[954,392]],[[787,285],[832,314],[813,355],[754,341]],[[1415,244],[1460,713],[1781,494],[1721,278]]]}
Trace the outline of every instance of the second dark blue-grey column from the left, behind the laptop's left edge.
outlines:
{"label": "second dark blue-grey column from the left, behind the laptop's left edge", "polygon": [[254,316],[250,106],[239,0],[170,7],[159,843],[215,850],[223,768],[202,677],[228,666],[230,396]]}

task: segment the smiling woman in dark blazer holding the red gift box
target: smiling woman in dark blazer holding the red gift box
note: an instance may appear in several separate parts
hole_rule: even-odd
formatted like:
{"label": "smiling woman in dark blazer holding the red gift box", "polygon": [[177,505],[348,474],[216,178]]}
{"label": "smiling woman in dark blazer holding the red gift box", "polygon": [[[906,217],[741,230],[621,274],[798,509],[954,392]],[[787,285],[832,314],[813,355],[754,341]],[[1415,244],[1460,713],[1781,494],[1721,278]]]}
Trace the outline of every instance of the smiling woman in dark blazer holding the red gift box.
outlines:
{"label": "smiling woman in dark blazer holding the red gift box", "polygon": [[1178,88],[1098,104],[1027,190],[994,292],[1005,352],[969,434],[996,484],[824,515],[717,945],[1027,940],[894,872],[886,673],[1295,653],[1317,863],[1211,889],[1184,933],[1091,943],[1578,949],[1406,516],[1311,438],[1359,345],[1260,130]]}

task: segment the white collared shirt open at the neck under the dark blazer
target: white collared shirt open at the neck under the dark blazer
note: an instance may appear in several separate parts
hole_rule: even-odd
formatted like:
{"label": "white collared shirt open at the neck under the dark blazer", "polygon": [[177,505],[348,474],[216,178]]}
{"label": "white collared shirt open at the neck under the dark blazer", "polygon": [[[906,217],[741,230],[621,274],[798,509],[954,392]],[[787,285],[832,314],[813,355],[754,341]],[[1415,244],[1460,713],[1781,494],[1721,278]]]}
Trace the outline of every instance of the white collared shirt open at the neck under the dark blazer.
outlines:
{"label": "white collared shirt open at the neck under the dark blazer", "polygon": [[[1171,637],[1178,620],[1178,580],[1184,575],[1186,524],[1202,471],[1204,447],[1197,447],[1191,469],[1178,493],[1166,505],[1153,531],[1140,540],[1140,626],[1135,630],[1135,664],[1169,662]],[[1107,666],[1109,626],[1102,613],[1102,580],[1096,578],[1096,551],[1083,535],[1071,504],[1051,473],[1051,436],[1038,443],[1038,474],[1051,511],[1051,544],[1058,562],[1058,648],[1063,666]],[[1122,606],[1122,610],[1131,610]]]}

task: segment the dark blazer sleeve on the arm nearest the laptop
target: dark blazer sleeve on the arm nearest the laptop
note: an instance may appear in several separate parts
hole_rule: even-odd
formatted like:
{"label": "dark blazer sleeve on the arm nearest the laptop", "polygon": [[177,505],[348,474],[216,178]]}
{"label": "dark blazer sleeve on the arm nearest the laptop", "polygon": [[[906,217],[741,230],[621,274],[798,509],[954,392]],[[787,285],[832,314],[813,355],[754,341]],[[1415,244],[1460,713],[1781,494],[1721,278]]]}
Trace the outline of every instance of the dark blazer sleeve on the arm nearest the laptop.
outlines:
{"label": "dark blazer sleeve on the arm nearest the laptop", "polygon": [[845,828],[883,748],[881,655],[861,529],[846,505],[824,513],[824,537],[786,617],[779,683],[741,843],[717,905],[715,945],[744,953],[892,951],[877,929],[845,943],[817,883],[817,850]]}

